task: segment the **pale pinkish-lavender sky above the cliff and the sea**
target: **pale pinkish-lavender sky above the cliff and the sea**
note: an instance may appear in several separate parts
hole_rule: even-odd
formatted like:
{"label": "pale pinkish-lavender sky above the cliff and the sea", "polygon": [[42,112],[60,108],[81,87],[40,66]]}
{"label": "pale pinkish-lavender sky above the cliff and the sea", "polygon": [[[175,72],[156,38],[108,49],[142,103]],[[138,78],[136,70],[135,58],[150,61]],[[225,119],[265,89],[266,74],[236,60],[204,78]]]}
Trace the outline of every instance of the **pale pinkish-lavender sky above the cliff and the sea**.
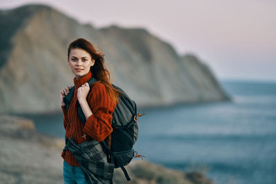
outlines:
{"label": "pale pinkish-lavender sky above the cliff and the sea", "polygon": [[0,0],[8,9],[43,3],[95,28],[145,28],[178,54],[195,54],[217,79],[276,81],[274,0]]}

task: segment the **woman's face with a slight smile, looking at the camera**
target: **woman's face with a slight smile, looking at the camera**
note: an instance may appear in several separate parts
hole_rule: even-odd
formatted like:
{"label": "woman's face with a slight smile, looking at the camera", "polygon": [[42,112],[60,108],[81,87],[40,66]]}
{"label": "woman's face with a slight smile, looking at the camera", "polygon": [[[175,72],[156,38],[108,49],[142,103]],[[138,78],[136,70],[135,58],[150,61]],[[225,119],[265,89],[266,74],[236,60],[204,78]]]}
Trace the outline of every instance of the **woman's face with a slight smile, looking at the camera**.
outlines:
{"label": "woman's face with a slight smile, looking at the camera", "polygon": [[70,50],[70,56],[67,59],[72,73],[76,76],[76,79],[80,79],[88,74],[90,66],[95,63],[95,59],[92,60],[90,54],[86,52],[86,50],[82,50],[80,48]]}

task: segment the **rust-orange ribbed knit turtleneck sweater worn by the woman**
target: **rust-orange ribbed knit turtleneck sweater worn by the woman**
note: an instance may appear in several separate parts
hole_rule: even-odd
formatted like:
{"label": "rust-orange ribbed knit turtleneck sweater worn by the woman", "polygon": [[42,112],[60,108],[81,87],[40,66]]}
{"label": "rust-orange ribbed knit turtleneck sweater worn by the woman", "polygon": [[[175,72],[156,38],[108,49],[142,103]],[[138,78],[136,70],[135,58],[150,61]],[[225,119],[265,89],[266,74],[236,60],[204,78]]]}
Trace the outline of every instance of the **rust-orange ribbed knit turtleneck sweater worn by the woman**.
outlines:
{"label": "rust-orange ribbed knit turtleneck sweater worn by the woman", "polygon": [[[89,72],[81,79],[74,78],[75,94],[70,103],[68,114],[66,114],[65,105],[61,105],[63,111],[63,125],[66,129],[66,137],[71,136],[77,144],[83,143],[90,139],[103,141],[112,132],[112,113],[115,110],[115,103],[110,98],[106,86],[102,83],[92,85],[87,96],[88,105],[92,115],[86,120],[86,125],[81,123],[77,116],[77,88],[88,82],[92,74]],[[86,133],[86,139],[83,136]],[[82,137],[83,136],[83,137]],[[63,151],[61,157],[72,166],[79,166],[74,156],[68,151]]]}

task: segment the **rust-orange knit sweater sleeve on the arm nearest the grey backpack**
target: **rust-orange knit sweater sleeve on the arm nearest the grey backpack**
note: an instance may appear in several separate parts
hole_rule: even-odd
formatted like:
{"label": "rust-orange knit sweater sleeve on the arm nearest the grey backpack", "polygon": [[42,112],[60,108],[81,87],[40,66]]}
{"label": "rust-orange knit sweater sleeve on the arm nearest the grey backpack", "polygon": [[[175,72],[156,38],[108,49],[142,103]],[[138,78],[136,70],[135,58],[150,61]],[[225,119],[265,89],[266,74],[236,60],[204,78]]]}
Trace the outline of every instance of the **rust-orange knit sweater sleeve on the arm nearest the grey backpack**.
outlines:
{"label": "rust-orange knit sweater sleeve on the arm nearest the grey backpack", "polygon": [[91,88],[87,99],[92,115],[86,120],[83,132],[96,141],[103,141],[112,132],[112,113],[115,110],[115,103],[102,83],[96,83]]}

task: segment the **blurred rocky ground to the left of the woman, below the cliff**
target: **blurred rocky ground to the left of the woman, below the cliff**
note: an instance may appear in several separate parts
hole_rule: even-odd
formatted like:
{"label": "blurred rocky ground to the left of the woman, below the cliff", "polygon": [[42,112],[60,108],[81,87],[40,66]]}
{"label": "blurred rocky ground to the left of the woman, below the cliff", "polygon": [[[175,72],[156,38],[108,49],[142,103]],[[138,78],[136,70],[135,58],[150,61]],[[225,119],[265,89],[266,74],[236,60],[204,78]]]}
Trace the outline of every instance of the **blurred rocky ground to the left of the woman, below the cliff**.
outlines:
{"label": "blurred rocky ground to the left of the woman, below the cliff", "polygon": [[62,148],[55,140],[28,119],[1,115],[0,183],[62,183]]}

